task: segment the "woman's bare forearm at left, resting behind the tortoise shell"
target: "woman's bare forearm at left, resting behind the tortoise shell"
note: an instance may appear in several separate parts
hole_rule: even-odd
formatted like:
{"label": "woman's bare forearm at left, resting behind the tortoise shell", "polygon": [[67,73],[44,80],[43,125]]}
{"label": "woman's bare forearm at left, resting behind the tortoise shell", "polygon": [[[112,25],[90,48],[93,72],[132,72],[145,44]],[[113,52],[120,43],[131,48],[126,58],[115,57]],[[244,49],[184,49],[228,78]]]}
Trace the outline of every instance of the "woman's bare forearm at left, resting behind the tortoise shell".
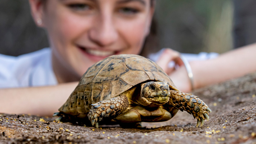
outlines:
{"label": "woman's bare forearm at left, resting behind the tortoise shell", "polygon": [[0,89],[0,113],[52,116],[66,102],[76,85],[78,82]]}

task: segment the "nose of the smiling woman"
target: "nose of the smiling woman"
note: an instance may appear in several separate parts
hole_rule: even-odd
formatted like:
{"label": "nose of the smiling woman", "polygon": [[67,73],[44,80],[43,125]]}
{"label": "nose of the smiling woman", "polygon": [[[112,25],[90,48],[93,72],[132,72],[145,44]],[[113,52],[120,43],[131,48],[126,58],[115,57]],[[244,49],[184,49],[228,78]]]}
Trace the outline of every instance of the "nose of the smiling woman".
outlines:
{"label": "nose of the smiling woman", "polygon": [[118,31],[112,17],[98,17],[89,30],[89,38],[102,47],[113,44],[118,39]]}

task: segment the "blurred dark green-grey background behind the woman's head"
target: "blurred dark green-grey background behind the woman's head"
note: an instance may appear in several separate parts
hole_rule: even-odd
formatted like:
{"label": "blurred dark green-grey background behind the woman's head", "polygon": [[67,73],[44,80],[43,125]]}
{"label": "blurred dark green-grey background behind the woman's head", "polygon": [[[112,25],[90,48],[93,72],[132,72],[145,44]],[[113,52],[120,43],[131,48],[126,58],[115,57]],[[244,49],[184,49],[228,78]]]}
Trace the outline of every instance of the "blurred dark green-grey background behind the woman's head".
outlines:
{"label": "blurred dark green-grey background behind the woman's head", "polygon": [[[256,41],[255,6],[255,0],[157,0],[156,23],[144,55],[161,48],[224,53],[251,44]],[[0,54],[17,56],[47,46],[45,31],[32,21],[28,0],[0,1]]]}

